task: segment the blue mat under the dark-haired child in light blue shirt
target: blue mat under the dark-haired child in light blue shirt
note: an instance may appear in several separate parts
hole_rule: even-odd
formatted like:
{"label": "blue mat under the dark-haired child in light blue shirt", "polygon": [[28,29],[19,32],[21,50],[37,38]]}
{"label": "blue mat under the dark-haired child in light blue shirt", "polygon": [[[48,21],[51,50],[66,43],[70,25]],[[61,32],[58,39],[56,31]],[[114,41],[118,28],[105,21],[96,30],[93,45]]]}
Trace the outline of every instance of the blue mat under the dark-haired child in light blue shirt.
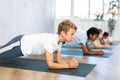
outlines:
{"label": "blue mat under the dark-haired child in light blue shirt", "polygon": [[103,55],[91,55],[91,54],[83,54],[82,51],[73,51],[73,50],[61,50],[62,54],[66,54],[66,55],[75,55],[75,56],[93,56],[93,57],[104,57],[104,58],[109,58],[112,53],[104,53]]}

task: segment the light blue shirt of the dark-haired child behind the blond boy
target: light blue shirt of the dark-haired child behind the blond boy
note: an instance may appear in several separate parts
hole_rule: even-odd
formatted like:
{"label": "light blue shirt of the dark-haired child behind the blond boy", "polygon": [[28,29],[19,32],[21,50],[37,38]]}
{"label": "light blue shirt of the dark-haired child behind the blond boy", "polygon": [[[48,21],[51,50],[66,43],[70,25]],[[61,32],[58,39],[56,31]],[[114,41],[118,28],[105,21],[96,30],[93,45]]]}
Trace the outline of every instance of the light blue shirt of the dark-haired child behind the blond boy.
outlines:
{"label": "light blue shirt of the dark-haired child behind the blond boy", "polygon": [[82,30],[77,30],[74,34],[74,38],[71,42],[65,42],[63,46],[68,46],[68,47],[77,47],[80,46],[80,44],[86,45],[88,41],[87,34],[86,32]]}

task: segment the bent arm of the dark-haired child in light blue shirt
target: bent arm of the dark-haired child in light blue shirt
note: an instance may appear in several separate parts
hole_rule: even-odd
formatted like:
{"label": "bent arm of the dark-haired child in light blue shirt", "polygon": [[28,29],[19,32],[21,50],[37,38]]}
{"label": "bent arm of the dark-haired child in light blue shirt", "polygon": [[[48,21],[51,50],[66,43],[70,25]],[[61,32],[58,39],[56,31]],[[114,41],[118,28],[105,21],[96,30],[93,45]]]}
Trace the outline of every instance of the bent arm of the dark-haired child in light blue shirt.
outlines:
{"label": "bent arm of the dark-haired child in light blue shirt", "polygon": [[99,54],[100,55],[104,53],[103,51],[93,51],[90,49],[88,45],[81,44],[81,47],[82,47],[82,52],[84,54]]}

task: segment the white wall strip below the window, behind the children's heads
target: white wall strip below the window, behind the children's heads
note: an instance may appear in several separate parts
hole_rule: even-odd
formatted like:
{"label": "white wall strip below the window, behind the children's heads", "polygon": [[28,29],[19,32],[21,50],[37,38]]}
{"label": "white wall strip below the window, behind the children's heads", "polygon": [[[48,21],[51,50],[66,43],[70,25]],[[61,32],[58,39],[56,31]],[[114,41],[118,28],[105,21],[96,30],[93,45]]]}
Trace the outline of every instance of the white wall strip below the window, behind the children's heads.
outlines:
{"label": "white wall strip below the window, behind the children's heads", "polygon": [[[94,21],[94,20],[80,20],[80,19],[70,19],[78,29],[82,29],[87,31],[90,27],[101,28],[103,31],[107,31],[106,25],[108,25],[107,21]],[[58,24],[63,21],[63,19],[56,19],[54,22],[54,32],[57,32]]]}

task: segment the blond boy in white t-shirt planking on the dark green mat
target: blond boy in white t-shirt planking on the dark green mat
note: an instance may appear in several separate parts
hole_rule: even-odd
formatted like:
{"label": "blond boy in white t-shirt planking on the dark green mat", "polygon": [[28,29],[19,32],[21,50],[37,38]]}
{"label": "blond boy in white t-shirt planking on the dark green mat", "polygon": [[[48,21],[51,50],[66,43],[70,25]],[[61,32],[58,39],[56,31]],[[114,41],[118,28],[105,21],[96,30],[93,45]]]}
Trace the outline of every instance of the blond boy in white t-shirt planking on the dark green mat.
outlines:
{"label": "blond boy in white t-shirt planking on the dark green mat", "polygon": [[[62,21],[58,26],[58,34],[20,35],[13,38],[0,49],[0,58],[16,58],[25,55],[45,53],[46,62],[50,69],[77,68],[78,61],[73,58],[67,62],[61,57],[60,49],[63,41],[72,41],[77,27],[70,20]],[[53,61],[56,53],[57,63]]]}

